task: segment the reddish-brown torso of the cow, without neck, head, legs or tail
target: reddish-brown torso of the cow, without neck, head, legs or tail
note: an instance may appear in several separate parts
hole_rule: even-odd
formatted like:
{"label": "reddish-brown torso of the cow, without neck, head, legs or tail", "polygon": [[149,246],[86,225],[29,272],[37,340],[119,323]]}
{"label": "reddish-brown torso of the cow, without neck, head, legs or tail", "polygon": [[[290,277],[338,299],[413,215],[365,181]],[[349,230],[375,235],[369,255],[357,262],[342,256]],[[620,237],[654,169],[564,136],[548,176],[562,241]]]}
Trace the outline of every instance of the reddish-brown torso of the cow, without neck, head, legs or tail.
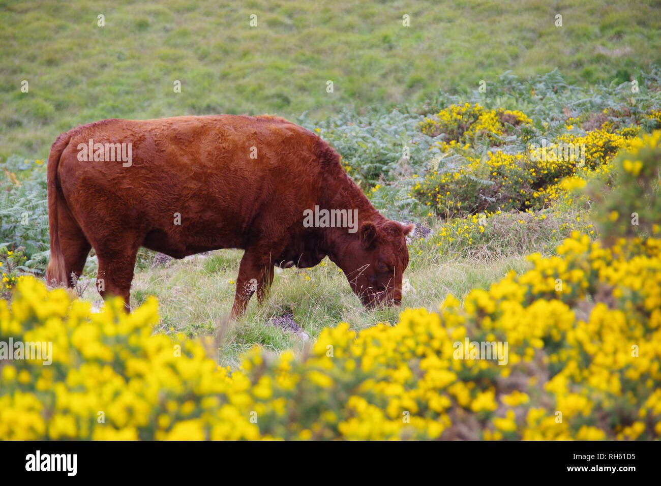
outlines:
{"label": "reddish-brown torso of the cow, without neck, head, legs or tail", "polygon": [[[292,225],[319,191],[323,142],[280,118],[113,119],[67,136],[58,179],[83,231],[102,234],[121,223],[173,256],[243,248],[255,232]],[[130,143],[131,160],[81,161],[90,141]]]}

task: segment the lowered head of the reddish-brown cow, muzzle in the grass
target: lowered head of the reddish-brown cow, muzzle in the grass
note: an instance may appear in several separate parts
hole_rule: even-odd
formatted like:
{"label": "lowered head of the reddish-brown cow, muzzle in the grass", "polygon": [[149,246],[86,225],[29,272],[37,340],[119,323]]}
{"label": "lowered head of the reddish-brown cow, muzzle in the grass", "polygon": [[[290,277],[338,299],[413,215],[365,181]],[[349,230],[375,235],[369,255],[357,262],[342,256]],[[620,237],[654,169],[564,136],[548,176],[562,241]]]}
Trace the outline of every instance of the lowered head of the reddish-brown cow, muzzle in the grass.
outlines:
{"label": "lowered head of the reddish-brown cow, muzzle in the grass", "polygon": [[402,275],[408,266],[405,236],[414,225],[364,222],[336,255],[351,288],[367,307],[401,304]]}

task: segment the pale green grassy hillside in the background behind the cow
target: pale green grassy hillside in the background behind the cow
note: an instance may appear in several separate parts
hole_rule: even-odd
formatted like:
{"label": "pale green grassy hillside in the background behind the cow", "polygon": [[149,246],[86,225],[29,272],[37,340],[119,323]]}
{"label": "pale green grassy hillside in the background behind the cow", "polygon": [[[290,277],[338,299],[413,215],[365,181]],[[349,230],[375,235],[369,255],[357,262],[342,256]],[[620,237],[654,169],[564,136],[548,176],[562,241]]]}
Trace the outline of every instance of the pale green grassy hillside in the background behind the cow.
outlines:
{"label": "pale green grassy hillside in the background behind the cow", "polygon": [[661,61],[660,25],[652,1],[0,0],[0,157],[44,158],[60,132],[102,118],[325,118],[468,93],[508,70],[621,83]]}

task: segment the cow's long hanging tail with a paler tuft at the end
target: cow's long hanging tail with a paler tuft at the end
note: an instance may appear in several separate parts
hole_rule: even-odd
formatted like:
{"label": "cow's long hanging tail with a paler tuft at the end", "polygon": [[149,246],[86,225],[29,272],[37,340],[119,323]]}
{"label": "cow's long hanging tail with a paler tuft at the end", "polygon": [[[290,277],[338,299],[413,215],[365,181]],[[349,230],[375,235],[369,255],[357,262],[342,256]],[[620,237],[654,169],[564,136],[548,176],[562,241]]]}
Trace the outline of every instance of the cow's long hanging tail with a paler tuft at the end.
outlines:
{"label": "cow's long hanging tail with a paler tuft at the end", "polygon": [[46,269],[46,283],[48,286],[67,286],[68,283],[64,256],[59,246],[58,206],[66,204],[66,202],[59,184],[58,167],[59,159],[70,139],[71,135],[68,133],[61,134],[50,147],[50,155],[48,155],[48,175],[46,177],[48,186],[48,226],[50,229],[50,260]]}

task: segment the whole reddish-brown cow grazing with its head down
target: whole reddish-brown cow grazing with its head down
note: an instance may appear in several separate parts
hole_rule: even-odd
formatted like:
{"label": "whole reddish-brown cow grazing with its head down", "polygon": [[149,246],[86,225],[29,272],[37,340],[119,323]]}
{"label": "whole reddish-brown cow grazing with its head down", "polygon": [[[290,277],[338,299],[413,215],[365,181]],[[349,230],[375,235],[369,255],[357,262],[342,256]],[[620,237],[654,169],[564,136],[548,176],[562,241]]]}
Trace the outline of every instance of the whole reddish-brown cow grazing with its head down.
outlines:
{"label": "whole reddish-brown cow grazing with its head down", "polygon": [[79,126],[51,148],[48,209],[48,282],[71,286],[94,247],[101,296],[126,305],[140,246],[177,259],[244,249],[234,317],[254,292],[263,300],[274,265],[311,267],[326,255],[364,305],[401,302],[412,225],[383,218],[326,142],[282,118]]}

